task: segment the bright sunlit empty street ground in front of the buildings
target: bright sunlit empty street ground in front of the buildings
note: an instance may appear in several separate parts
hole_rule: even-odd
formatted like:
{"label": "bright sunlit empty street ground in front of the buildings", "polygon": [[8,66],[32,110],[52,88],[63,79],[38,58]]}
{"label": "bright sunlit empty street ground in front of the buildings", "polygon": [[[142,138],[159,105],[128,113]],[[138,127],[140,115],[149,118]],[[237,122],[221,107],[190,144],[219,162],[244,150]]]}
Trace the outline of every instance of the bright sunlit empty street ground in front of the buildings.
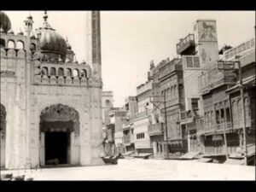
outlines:
{"label": "bright sunlit empty street ground in front of the buildings", "polygon": [[[35,181],[254,180],[254,168],[254,166],[207,164],[178,160],[119,160],[118,165],[56,167],[38,169],[37,171],[1,171],[1,174],[26,175],[26,178],[32,177]],[[236,174],[236,172],[240,174]]]}

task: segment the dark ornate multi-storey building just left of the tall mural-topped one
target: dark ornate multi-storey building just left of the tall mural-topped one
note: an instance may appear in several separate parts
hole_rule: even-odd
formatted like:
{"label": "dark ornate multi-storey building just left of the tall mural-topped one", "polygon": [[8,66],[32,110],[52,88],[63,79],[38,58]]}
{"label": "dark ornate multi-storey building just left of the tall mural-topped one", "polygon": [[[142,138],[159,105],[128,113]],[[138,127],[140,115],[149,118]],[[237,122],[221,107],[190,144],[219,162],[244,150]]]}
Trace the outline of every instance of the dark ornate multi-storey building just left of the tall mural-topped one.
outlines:
{"label": "dark ornate multi-storey building just left of the tall mural-topped one", "polygon": [[[154,81],[154,113],[152,124],[148,125],[148,135],[154,146],[154,157],[164,158],[169,153],[185,152],[186,140],[180,129],[180,113],[183,110],[182,60],[167,58],[156,67],[151,64],[150,79]],[[164,98],[166,97],[166,98]],[[164,101],[166,100],[166,101]],[[164,105],[166,102],[166,106]],[[158,106],[158,107],[157,107]],[[166,107],[166,110],[165,110]],[[166,124],[168,147],[166,145]]]}

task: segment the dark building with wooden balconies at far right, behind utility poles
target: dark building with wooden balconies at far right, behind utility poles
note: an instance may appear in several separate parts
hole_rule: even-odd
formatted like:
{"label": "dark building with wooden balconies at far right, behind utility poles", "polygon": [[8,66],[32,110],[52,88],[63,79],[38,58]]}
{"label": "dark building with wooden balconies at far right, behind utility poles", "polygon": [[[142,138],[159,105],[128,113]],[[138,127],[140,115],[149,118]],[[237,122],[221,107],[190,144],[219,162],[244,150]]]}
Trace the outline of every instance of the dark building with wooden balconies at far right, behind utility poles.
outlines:
{"label": "dark building with wooden balconies at far right, behind utility poles", "polygon": [[[230,68],[225,67],[223,64],[225,61],[230,61],[230,64],[234,65],[229,65]],[[202,151],[220,157],[218,160],[225,160],[226,155],[244,152],[239,73],[233,61],[236,61],[236,64],[237,61],[241,62],[247,148],[253,150],[255,154],[255,39],[253,38],[224,51],[222,60],[212,63],[207,73],[202,73],[199,77],[204,118],[201,124],[198,122],[198,135],[201,137]]]}

